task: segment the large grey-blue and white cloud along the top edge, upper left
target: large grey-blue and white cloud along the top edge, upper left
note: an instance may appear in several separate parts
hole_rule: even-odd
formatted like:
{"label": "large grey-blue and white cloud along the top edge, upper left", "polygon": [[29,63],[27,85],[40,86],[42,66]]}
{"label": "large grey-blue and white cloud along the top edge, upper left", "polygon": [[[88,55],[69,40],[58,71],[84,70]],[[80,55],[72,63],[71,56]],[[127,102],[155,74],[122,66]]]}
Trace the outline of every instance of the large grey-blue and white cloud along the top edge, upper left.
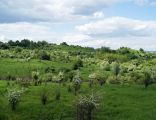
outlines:
{"label": "large grey-blue and white cloud along the top edge, upper left", "polygon": [[[89,16],[118,1],[120,0],[1,0],[0,9],[3,16],[15,17],[19,21],[73,20]],[[102,16],[102,13],[95,15]]]}

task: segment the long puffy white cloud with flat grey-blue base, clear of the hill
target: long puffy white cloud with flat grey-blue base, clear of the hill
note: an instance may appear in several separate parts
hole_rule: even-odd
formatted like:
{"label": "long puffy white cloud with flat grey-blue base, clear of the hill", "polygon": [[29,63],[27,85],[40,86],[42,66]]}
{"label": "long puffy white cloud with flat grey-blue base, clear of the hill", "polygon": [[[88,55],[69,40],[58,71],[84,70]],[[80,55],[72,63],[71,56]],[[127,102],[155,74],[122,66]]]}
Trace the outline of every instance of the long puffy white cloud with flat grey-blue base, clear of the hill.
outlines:
{"label": "long puffy white cloud with flat grey-blue base, clear of the hill", "polygon": [[156,21],[112,17],[76,26],[76,29],[90,36],[151,36],[156,34]]}

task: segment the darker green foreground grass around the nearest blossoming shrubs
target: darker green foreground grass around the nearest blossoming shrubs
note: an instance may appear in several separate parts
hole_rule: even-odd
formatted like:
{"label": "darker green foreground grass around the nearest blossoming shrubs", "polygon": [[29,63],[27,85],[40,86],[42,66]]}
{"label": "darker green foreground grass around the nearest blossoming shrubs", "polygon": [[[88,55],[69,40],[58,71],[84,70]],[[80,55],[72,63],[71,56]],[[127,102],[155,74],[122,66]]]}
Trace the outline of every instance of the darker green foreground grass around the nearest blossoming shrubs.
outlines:
{"label": "darker green foreground grass around the nearest blossoming shrubs", "polygon": [[[17,87],[16,85],[14,87]],[[6,98],[7,82],[0,81],[0,120],[75,120],[75,101],[79,96],[67,91],[67,86],[49,83],[46,89],[49,100],[46,106],[40,101],[42,86],[30,86],[22,95],[17,110],[12,112]],[[61,100],[55,100],[55,90],[61,89]],[[92,90],[83,83],[82,94],[101,93],[100,106],[96,110],[97,120],[155,120],[156,85],[145,90],[142,86],[105,85]]]}

